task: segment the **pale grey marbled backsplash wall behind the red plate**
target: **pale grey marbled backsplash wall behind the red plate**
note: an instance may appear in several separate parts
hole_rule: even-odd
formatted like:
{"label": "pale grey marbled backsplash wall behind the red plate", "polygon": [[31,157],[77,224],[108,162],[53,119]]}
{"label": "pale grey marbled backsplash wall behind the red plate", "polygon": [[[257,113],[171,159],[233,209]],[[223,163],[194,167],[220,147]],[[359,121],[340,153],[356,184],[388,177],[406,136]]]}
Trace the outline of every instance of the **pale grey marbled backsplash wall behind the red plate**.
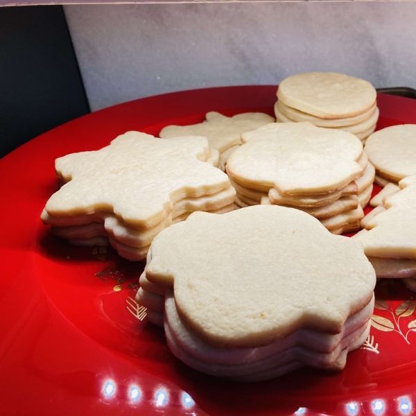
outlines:
{"label": "pale grey marbled backsplash wall behind the red plate", "polygon": [[92,110],[338,71],[416,88],[416,3],[65,6]]}

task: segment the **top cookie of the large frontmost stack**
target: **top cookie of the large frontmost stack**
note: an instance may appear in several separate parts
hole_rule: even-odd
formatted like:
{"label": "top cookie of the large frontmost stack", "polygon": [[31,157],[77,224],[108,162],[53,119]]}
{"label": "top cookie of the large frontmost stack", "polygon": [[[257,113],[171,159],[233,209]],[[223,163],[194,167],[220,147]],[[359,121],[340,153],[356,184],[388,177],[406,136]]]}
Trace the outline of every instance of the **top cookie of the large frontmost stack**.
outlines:
{"label": "top cookie of the large frontmost stack", "polygon": [[361,243],[300,210],[267,205],[196,212],[164,229],[146,277],[173,286],[187,327],[219,347],[269,345],[301,328],[340,333],[375,284]]}

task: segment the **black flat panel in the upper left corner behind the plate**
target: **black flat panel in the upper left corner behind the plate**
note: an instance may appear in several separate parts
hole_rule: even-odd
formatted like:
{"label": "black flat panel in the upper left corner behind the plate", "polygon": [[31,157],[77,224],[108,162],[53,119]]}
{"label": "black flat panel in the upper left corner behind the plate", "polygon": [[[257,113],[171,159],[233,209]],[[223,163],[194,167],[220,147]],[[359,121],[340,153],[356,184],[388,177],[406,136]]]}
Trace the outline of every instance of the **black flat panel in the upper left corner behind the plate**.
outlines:
{"label": "black flat panel in the upper left corner behind the plate", "polygon": [[62,6],[0,8],[0,157],[89,112]]}

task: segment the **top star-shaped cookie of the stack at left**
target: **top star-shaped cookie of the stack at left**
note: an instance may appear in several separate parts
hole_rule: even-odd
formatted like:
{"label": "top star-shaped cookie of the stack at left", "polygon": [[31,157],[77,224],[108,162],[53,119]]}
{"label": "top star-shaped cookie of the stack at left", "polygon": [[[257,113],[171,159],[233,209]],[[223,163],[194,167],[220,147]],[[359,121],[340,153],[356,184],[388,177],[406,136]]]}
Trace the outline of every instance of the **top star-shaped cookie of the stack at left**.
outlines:
{"label": "top star-shaped cookie of the stack at left", "polygon": [[[155,139],[128,132],[110,146],[56,161],[58,175],[70,182],[46,202],[51,216],[114,211],[126,225],[148,229],[166,218],[175,202],[217,193],[229,187],[227,175],[204,162],[205,137]],[[157,166],[157,169],[155,169]]]}

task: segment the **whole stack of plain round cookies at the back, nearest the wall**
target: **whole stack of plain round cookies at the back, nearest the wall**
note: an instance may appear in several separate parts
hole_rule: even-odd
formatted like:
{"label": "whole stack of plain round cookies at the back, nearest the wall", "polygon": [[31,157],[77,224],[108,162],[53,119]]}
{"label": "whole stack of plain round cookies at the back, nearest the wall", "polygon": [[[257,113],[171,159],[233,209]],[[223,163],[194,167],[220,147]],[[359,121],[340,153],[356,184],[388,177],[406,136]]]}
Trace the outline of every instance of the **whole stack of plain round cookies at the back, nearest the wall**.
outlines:
{"label": "whole stack of plain round cookies at the back, nearest the wall", "polygon": [[279,122],[309,121],[344,130],[363,143],[376,128],[376,90],[365,80],[333,72],[310,72],[281,81],[275,105]]}

